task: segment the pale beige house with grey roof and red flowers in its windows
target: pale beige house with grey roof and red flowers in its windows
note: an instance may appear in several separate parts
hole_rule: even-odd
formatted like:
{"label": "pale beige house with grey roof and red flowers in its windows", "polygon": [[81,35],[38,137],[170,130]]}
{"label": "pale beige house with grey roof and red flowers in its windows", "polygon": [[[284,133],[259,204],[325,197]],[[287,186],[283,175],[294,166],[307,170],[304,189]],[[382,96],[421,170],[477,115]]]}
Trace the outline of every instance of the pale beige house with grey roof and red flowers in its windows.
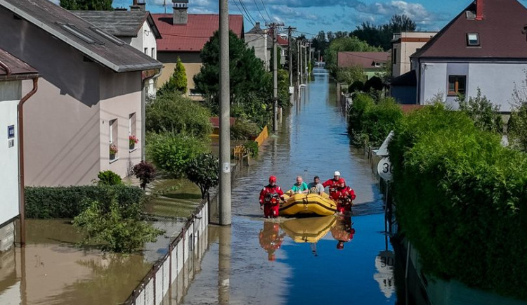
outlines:
{"label": "pale beige house with grey roof and red flowers in its windows", "polygon": [[143,88],[160,62],[51,1],[0,0],[0,27],[1,48],[40,75],[25,108],[26,185],[89,184],[141,161]]}

